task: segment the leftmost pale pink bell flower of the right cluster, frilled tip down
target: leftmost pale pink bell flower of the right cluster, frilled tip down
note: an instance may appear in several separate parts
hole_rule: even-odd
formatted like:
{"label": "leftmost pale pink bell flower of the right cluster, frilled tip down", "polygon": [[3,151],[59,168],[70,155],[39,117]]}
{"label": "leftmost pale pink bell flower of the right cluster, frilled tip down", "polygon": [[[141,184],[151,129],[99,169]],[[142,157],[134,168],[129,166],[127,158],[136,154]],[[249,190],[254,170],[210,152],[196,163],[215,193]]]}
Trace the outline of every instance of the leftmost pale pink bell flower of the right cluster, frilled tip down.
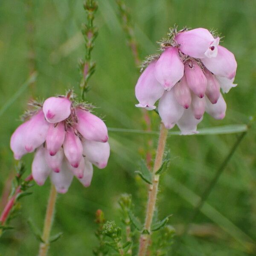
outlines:
{"label": "leftmost pale pink bell flower of the right cluster, frilled tip down", "polygon": [[154,76],[154,67],[156,61],[152,61],[140,75],[135,86],[135,96],[139,101],[136,107],[155,109],[155,102],[160,99],[164,93],[163,87]]}

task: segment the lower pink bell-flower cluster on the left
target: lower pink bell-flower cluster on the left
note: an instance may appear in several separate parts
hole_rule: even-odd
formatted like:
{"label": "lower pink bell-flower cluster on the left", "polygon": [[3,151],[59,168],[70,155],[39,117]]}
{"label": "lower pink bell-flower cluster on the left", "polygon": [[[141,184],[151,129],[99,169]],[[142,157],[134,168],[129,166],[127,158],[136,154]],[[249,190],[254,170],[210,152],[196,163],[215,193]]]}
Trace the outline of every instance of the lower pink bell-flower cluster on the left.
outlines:
{"label": "lower pink bell-flower cluster on the left", "polygon": [[90,186],[93,166],[105,168],[110,155],[108,130],[99,117],[68,97],[50,97],[12,134],[15,159],[36,150],[32,176],[43,185],[49,176],[57,192],[67,192],[75,175]]}

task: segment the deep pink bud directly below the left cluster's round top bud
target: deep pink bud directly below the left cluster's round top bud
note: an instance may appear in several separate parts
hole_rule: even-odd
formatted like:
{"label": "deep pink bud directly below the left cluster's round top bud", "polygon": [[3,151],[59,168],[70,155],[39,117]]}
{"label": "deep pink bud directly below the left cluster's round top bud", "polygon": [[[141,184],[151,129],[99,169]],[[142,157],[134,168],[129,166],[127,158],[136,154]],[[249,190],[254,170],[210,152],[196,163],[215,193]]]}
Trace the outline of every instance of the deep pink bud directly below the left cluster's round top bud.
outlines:
{"label": "deep pink bud directly below the left cluster's round top bud", "polygon": [[57,125],[50,124],[46,136],[46,147],[51,156],[54,156],[61,148],[65,139],[64,122],[59,122]]}

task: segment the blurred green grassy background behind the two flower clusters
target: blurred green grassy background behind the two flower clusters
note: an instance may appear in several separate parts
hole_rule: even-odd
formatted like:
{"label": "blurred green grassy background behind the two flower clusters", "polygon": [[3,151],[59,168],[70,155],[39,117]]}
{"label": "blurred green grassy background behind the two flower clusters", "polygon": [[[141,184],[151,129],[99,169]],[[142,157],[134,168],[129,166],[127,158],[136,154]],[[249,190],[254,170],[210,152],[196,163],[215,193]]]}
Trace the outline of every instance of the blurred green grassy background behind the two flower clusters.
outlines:
{"label": "blurred green grassy background behind the two flower clusters", "polygon": [[[90,80],[87,101],[96,105],[111,128],[143,129],[143,112],[134,107],[134,85],[138,73],[114,0],[99,0],[95,23],[99,36],[92,58],[96,73]],[[218,29],[222,45],[236,56],[238,87],[225,95],[227,115],[222,121],[205,114],[199,128],[243,124],[256,114],[256,1],[255,0],[127,0],[131,9],[140,57],[157,51],[156,41],[166,36],[170,26]],[[28,7],[29,4],[29,7]],[[0,193],[10,175],[14,160],[9,139],[26,103],[34,98],[64,94],[67,87],[79,93],[78,60],[84,55],[81,23],[86,20],[82,0],[1,0],[0,1]],[[32,23],[31,23],[32,22]],[[35,26],[35,31],[31,26]],[[35,57],[35,61],[31,60]],[[24,86],[31,69],[37,70],[35,84]],[[15,93],[17,97],[14,98]],[[2,109],[3,110],[3,109]],[[154,113],[152,130],[158,130]],[[175,128],[176,129],[176,128]],[[84,188],[77,180],[65,195],[58,196],[52,234],[63,232],[49,255],[92,254],[95,212],[120,223],[117,200],[131,193],[137,214],[143,219],[146,186],[135,177],[140,157],[145,157],[148,140],[153,148],[157,135],[109,132],[111,157],[103,170],[95,168],[92,184]],[[212,190],[207,205],[195,219],[193,234],[182,240],[178,255],[253,255],[256,241],[256,144],[251,128]],[[159,216],[173,214],[169,221],[179,230],[191,216],[196,195],[210,182],[218,166],[239,134],[171,136],[167,148],[172,164],[160,181]],[[32,155],[24,157],[26,175]],[[49,180],[34,186],[33,194],[21,199],[21,214],[12,221],[15,230],[0,239],[4,256],[36,255],[38,240],[27,224],[30,217],[42,228],[49,194]],[[255,252],[254,252],[255,253]],[[170,254],[171,255],[171,254]]]}

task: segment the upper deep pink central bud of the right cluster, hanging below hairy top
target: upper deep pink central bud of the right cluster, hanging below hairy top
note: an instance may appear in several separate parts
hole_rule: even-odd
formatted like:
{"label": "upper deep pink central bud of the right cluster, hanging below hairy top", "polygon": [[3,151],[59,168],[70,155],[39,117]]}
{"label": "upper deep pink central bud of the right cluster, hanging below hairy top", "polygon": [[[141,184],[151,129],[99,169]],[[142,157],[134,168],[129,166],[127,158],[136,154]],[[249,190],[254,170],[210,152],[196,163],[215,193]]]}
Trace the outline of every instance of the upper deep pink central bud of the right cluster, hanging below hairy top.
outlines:
{"label": "upper deep pink central bud of the right cluster, hanging below hairy top", "polygon": [[195,95],[203,98],[207,88],[207,79],[201,67],[195,61],[187,61],[185,75],[188,87]]}

